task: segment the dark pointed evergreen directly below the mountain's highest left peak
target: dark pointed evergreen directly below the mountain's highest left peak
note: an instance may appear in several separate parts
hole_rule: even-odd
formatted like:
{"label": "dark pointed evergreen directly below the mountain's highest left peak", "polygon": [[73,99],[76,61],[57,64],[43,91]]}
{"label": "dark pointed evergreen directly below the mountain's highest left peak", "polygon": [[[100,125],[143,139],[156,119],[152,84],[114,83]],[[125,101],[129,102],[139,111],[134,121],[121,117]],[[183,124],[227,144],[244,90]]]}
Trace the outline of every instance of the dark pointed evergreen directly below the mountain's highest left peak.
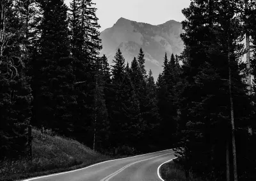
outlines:
{"label": "dark pointed evergreen directly below the mountain's highest left peak", "polygon": [[112,66],[113,96],[111,107],[111,145],[121,148],[124,145],[138,147],[136,140],[141,138],[140,102],[132,84],[129,65],[120,49],[116,52]]}

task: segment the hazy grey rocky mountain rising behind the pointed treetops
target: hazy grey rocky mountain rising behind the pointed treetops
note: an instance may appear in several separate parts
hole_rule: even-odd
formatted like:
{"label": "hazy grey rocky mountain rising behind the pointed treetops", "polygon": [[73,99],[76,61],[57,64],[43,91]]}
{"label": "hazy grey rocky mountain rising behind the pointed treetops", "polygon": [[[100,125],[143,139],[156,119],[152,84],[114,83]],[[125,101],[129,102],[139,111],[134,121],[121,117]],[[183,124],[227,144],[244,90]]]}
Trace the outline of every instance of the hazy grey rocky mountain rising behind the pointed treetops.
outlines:
{"label": "hazy grey rocky mountain rising behind the pointed treetops", "polygon": [[180,39],[182,32],[182,25],[175,20],[151,25],[120,18],[111,28],[100,33],[103,47],[100,56],[105,54],[109,64],[113,65],[115,53],[120,48],[125,61],[131,65],[132,59],[138,56],[142,48],[146,59],[145,67],[152,70],[156,81],[159,73],[163,71],[164,53],[170,58],[172,53],[179,55],[184,49]]}

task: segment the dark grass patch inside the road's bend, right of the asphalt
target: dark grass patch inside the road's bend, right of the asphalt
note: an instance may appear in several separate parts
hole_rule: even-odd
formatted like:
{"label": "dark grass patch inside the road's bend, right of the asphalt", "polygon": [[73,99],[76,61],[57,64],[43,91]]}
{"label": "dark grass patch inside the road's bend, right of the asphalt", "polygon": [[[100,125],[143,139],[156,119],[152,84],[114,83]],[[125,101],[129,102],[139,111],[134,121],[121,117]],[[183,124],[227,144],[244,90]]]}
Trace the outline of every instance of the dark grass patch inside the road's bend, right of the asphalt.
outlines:
{"label": "dark grass patch inside the road's bend, right of the asphalt", "polygon": [[[160,175],[165,181],[186,181],[185,171],[176,162],[167,162],[160,168]],[[200,178],[193,178],[192,174],[189,174],[189,181],[203,181]]]}

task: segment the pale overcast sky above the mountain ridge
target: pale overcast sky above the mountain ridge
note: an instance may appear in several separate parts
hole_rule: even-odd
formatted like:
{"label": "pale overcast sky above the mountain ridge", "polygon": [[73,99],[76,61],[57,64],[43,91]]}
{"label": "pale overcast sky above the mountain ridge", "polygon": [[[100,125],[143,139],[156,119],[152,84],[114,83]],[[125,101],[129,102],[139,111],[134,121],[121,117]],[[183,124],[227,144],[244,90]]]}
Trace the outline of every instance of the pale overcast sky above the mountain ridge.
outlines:
{"label": "pale overcast sky above the mountain ridge", "polygon": [[[72,0],[65,0],[68,5]],[[97,17],[103,31],[123,17],[148,24],[163,24],[168,20],[184,20],[181,13],[189,6],[190,0],[93,0],[96,3]]]}

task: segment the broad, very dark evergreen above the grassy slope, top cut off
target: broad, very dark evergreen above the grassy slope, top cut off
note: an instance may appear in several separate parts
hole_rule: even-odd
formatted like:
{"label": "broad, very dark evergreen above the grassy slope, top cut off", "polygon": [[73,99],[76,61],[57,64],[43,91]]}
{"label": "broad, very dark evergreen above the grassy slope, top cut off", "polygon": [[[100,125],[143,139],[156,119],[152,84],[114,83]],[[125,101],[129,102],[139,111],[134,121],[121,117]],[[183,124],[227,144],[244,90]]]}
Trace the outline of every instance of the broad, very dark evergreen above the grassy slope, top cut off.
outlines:
{"label": "broad, very dark evergreen above the grassy slope, top cut off", "polygon": [[40,1],[44,12],[40,53],[38,91],[35,97],[36,121],[44,127],[70,136],[73,131],[75,77],[68,40],[67,6],[63,0]]}

